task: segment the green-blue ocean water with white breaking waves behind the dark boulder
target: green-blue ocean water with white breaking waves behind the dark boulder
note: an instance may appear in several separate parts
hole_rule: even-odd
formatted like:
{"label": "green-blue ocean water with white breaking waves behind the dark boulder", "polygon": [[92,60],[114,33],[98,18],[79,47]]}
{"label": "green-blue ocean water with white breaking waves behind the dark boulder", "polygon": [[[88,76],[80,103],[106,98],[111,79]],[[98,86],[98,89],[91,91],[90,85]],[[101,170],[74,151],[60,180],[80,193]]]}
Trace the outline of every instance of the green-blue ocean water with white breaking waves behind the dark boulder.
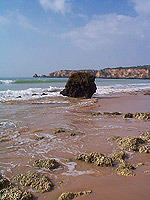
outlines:
{"label": "green-blue ocean water with white breaking waves behind the dark boulder", "polygon": [[[0,102],[61,96],[67,78],[0,78]],[[96,79],[96,95],[150,89],[150,80]]]}

